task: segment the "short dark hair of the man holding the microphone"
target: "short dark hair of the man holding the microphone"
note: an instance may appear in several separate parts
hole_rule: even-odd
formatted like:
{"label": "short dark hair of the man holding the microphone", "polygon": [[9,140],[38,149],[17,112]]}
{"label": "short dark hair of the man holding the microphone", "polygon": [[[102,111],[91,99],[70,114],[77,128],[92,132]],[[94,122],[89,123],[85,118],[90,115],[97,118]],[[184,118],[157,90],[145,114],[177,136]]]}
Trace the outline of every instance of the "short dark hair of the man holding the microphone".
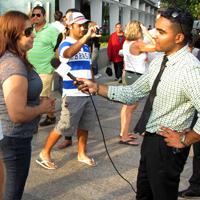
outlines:
{"label": "short dark hair of the man holding the microphone", "polygon": [[[172,14],[176,12],[178,15],[173,17]],[[188,43],[191,37],[191,31],[193,28],[193,17],[186,9],[169,7],[165,11],[161,12],[161,16],[169,19],[172,22],[172,28],[177,33],[183,33],[185,38],[184,42]],[[180,25],[181,24],[181,25]],[[181,30],[181,27],[183,31]]]}

